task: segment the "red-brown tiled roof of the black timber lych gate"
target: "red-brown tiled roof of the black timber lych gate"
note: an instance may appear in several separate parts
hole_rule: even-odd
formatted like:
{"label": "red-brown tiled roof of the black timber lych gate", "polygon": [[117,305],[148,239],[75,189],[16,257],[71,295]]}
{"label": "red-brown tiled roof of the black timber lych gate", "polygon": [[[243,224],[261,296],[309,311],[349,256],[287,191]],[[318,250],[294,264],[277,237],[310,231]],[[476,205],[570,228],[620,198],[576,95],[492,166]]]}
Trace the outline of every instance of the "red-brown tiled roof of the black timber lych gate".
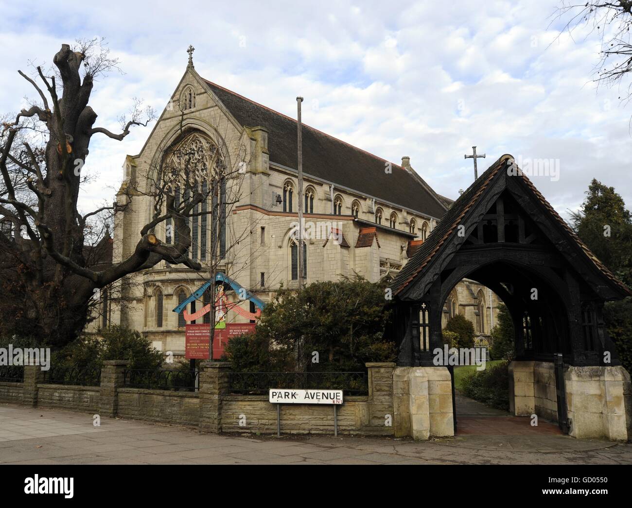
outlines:
{"label": "red-brown tiled roof of the black timber lych gate", "polygon": [[[434,228],[432,233],[428,235],[427,240],[423,242],[422,246],[415,253],[415,255],[406,263],[403,269],[398,273],[397,277],[393,281],[391,288],[394,294],[401,292],[406,286],[408,286],[417,275],[422,273],[423,269],[428,266],[428,263],[432,261],[433,257],[441,251],[442,245],[451,237],[456,234],[456,228],[463,221],[468,211],[477,203],[480,196],[482,196],[485,189],[490,185],[490,182],[498,174],[501,169],[507,168],[507,161],[513,161],[511,155],[503,155],[499,160],[492,164],[468,189],[461,194],[461,196],[454,201],[452,207],[447,211],[446,215],[442,218],[439,225]],[[604,264],[597,259],[597,256],[593,254],[590,249],[584,244],[580,237],[578,237],[569,225],[558,215],[549,202],[540,194],[540,191],[532,184],[526,175],[521,177],[526,186],[535,194],[535,197],[540,203],[549,211],[550,215],[556,220],[556,222],[564,228],[565,232],[571,238],[571,241],[578,244],[581,247],[583,253],[592,261],[599,271],[605,275],[609,280],[613,281],[621,290],[626,294],[632,294],[630,290],[619,281],[611,271],[607,269]]]}

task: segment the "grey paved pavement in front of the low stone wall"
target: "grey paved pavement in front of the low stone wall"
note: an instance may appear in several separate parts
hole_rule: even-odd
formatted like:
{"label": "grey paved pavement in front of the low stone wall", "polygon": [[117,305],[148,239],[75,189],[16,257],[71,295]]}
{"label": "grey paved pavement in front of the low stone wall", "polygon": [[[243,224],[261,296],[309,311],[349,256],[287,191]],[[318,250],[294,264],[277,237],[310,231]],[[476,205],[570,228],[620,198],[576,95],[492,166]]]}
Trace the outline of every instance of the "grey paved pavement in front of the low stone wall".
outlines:
{"label": "grey paved pavement in front of the low stone wall", "polygon": [[[483,418],[475,415],[474,418]],[[491,418],[506,418],[490,415]],[[459,425],[467,416],[459,416]],[[522,419],[530,427],[529,418]],[[0,405],[1,464],[632,464],[632,444],[566,435],[385,437],[200,434],[195,428]]]}

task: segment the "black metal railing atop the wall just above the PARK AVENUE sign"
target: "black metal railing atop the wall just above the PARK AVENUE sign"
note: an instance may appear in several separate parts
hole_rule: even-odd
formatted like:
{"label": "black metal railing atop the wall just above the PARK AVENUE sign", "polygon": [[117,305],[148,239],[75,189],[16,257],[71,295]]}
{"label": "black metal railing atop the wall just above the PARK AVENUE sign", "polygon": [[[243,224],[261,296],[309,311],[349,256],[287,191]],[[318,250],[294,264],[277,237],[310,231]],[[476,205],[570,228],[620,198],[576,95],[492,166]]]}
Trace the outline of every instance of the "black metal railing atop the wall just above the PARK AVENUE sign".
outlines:
{"label": "black metal railing atop the wall just above the PARK AVENUE sign", "polygon": [[264,395],[270,388],[337,389],[367,395],[366,372],[229,372],[231,393]]}

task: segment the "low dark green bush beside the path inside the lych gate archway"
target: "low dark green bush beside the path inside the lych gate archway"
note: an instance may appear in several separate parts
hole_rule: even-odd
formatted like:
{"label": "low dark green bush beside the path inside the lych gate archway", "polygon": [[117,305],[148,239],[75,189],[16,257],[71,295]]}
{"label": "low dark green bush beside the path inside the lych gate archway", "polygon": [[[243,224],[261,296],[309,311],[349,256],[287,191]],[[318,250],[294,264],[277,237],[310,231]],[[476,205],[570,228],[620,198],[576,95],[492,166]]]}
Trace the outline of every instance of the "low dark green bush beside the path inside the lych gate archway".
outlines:
{"label": "low dark green bush beside the path inside the lych gate archway", "polygon": [[509,363],[475,370],[461,381],[463,395],[492,408],[509,410]]}

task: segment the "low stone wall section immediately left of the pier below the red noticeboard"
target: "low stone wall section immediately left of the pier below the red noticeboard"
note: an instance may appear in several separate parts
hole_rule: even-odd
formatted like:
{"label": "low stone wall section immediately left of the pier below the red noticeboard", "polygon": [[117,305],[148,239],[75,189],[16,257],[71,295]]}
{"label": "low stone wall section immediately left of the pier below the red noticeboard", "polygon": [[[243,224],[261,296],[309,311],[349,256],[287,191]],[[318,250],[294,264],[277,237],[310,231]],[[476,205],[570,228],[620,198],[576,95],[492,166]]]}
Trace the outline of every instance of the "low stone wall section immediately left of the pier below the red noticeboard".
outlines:
{"label": "low stone wall section immediately left of the pier below the red noticeboard", "polygon": [[195,425],[200,422],[200,396],[184,391],[118,389],[118,411],[123,418]]}

